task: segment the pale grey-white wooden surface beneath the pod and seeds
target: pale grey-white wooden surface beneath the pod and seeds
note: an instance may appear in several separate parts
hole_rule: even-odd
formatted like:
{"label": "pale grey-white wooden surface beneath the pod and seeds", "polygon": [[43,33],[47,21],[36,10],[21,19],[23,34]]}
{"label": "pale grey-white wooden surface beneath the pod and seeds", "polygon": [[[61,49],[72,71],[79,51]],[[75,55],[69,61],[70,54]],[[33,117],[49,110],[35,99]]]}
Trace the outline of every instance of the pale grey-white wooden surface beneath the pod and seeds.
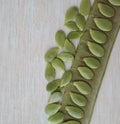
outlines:
{"label": "pale grey-white wooden surface beneath the pod and seeds", "polygon": [[[44,54],[80,0],[0,0],[0,124],[47,124]],[[120,124],[120,33],[91,124]]]}

